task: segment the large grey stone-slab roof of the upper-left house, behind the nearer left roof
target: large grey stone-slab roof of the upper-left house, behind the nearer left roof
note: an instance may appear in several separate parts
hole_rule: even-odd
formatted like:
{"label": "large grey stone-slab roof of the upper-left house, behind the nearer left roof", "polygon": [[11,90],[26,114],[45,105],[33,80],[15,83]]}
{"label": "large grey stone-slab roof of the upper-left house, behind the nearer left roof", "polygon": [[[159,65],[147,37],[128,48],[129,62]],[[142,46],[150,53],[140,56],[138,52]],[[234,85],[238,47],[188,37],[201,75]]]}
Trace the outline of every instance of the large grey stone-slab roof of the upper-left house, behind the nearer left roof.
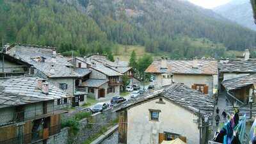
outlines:
{"label": "large grey stone-slab roof of the upper-left house, behind the nearer left roof", "polygon": [[[47,77],[80,77],[72,68],[68,68],[72,64],[66,58],[58,54],[53,56],[52,51],[54,51],[54,47],[14,44],[8,47],[6,53],[33,65]],[[43,57],[45,61],[35,60],[40,57]]]}

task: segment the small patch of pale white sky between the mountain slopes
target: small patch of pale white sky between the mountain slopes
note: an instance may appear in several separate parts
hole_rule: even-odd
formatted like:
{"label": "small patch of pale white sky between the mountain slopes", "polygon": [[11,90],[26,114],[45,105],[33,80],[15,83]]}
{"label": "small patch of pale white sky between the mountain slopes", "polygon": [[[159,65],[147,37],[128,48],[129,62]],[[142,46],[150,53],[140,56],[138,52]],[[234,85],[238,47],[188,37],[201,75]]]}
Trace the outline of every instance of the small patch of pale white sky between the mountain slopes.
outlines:
{"label": "small patch of pale white sky between the mountain slopes", "polygon": [[214,8],[216,6],[220,6],[222,4],[228,3],[231,0],[188,0],[188,1],[198,6],[202,6],[204,8]]}

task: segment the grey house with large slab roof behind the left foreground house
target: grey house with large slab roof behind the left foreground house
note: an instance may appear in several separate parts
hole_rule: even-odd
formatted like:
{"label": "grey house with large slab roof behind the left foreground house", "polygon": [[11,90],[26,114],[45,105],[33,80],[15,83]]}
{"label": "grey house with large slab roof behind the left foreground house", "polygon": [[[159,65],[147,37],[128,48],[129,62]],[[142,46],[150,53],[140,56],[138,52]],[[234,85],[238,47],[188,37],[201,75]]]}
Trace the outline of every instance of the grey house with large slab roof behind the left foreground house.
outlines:
{"label": "grey house with large slab roof behind the left foreground house", "polygon": [[6,49],[6,54],[33,65],[34,69],[31,72],[33,76],[47,79],[68,93],[68,101],[71,102],[66,102],[64,99],[56,100],[56,108],[67,106],[65,104],[68,103],[72,106],[81,106],[86,102],[87,93],[77,92],[75,86],[76,79],[81,76],[74,71],[72,63],[60,54],[56,54],[55,47],[13,44]]}

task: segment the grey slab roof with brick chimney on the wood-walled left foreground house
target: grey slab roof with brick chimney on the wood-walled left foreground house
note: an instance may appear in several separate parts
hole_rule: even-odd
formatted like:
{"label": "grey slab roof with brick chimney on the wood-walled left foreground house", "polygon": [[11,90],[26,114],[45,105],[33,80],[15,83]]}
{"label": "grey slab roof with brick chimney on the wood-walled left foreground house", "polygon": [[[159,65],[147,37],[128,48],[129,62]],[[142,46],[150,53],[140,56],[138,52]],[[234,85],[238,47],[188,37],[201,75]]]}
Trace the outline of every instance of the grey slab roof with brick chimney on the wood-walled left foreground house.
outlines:
{"label": "grey slab roof with brick chimney on the wood-walled left foreground house", "polygon": [[66,98],[67,93],[49,83],[49,93],[38,88],[39,77],[10,77],[0,79],[0,108],[45,100]]}

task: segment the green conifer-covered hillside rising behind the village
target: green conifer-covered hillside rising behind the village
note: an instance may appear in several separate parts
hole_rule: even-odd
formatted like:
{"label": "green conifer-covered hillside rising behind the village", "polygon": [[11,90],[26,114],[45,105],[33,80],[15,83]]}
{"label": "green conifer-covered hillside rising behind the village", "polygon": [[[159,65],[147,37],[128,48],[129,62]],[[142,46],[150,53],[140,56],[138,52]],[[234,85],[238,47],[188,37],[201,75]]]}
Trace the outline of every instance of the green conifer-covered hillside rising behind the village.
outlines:
{"label": "green conifer-covered hillside rising behind the village", "polygon": [[256,46],[255,31],[179,0],[0,0],[0,38],[79,55],[144,45],[173,58]]}

